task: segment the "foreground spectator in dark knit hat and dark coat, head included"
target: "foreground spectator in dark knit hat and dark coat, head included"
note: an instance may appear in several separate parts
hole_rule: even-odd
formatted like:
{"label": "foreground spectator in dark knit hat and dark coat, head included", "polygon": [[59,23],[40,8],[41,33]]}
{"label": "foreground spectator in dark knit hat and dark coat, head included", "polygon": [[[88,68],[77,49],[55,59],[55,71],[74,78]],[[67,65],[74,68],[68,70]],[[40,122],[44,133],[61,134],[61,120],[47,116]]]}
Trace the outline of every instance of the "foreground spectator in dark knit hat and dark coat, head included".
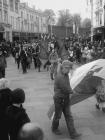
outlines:
{"label": "foreground spectator in dark knit hat and dark coat, head included", "polygon": [[24,90],[17,88],[13,90],[12,105],[7,108],[7,125],[10,140],[17,140],[18,132],[20,128],[30,119],[22,106],[25,101]]}

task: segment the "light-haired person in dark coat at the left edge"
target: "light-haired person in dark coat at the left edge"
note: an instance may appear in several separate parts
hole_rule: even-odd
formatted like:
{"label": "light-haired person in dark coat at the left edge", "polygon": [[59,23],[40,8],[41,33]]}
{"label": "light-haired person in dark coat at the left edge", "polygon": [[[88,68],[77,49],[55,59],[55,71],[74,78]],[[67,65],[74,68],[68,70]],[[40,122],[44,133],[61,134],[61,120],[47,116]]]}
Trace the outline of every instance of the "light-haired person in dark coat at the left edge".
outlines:
{"label": "light-haired person in dark coat at the left edge", "polygon": [[8,81],[0,79],[0,139],[9,140],[6,109],[12,104],[12,90],[8,88]]}

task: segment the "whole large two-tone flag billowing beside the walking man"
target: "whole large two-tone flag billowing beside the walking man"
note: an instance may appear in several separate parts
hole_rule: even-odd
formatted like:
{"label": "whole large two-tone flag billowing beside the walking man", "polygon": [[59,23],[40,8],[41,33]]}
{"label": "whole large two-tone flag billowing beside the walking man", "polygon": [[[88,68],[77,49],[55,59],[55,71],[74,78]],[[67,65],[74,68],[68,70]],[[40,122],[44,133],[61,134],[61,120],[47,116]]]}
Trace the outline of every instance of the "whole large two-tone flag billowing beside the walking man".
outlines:
{"label": "whole large two-tone flag billowing beside the walking man", "polygon": [[105,79],[105,59],[98,59],[77,68],[70,80],[74,91],[71,105],[95,95],[103,79]]}

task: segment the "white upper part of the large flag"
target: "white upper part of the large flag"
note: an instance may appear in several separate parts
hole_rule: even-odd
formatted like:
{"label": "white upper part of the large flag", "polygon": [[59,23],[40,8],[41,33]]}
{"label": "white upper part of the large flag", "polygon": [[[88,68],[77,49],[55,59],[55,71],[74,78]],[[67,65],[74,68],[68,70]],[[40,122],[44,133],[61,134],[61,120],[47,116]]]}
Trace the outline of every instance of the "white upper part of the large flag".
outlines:
{"label": "white upper part of the large flag", "polygon": [[98,59],[77,68],[70,80],[73,90],[81,83],[87,76],[98,76],[105,79],[105,59]]}

